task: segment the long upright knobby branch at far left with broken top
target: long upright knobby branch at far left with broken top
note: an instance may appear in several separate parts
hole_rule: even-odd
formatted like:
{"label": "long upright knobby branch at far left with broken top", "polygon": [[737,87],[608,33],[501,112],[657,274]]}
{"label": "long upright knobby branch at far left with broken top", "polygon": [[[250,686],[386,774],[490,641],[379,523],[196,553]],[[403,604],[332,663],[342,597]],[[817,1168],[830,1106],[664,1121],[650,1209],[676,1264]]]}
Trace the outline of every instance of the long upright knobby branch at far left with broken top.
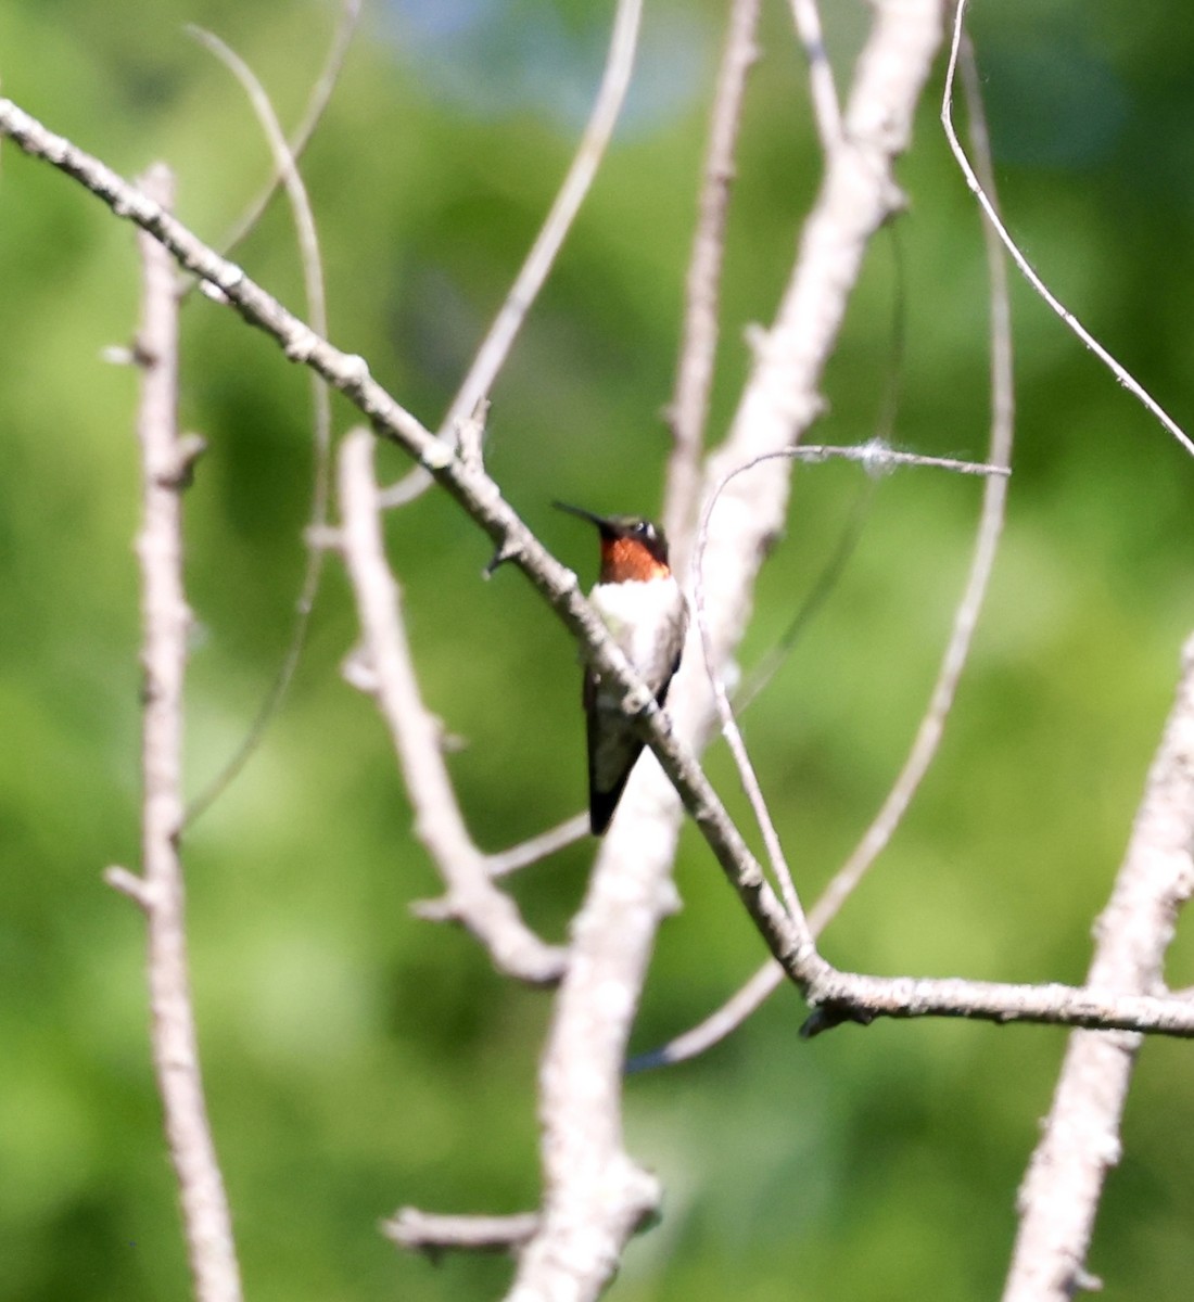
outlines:
{"label": "long upright knobby branch at far left with broken top", "polygon": [[[165,168],[154,168],[145,178],[145,189],[163,208],[171,206],[173,182]],[[145,266],[138,336],[138,358],[145,371],[138,417],[145,521],[137,540],[145,628],[143,876],[109,872],[109,880],[133,894],[147,918],[154,1068],[178,1180],[195,1297],[199,1302],[238,1302],[241,1281],[232,1220],[199,1075],[178,859],[182,681],[190,622],[182,590],[181,488],[194,449],[177,432],[178,318],[173,259],[143,232],[138,233],[138,245]]]}

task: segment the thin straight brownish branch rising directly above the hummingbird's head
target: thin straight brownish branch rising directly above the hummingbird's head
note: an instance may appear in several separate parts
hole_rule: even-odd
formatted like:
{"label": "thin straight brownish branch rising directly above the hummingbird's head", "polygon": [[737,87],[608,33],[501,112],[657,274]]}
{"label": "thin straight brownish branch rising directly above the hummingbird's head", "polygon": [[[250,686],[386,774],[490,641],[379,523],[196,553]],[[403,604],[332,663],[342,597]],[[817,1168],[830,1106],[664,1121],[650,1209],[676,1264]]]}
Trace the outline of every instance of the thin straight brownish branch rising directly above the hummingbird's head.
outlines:
{"label": "thin straight brownish branch rising directly above the hummingbird's head", "polygon": [[717,358],[717,307],[721,263],[725,256],[725,221],[746,77],[758,59],[758,26],[759,0],[734,0],[714,95],[697,233],[693,237],[685,281],[680,366],[676,392],[668,409],[673,449],[668,462],[663,525],[668,536],[677,540],[682,540],[691,527],[701,492],[701,452]]}

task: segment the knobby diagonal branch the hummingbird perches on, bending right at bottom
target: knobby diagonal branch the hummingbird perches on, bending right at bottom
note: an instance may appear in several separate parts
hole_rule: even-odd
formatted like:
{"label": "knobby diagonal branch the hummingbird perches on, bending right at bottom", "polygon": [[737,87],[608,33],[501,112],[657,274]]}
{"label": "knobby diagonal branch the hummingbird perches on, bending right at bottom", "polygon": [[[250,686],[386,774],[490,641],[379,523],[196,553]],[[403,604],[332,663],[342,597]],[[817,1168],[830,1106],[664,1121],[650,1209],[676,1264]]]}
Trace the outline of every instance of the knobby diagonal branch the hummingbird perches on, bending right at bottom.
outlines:
{"label": "knobby diagonal branch the hummingbird perches on, bending right at bottom", "polygon": [[[905,4],[893,5],[893,18]],[[891,34],[889,34],[891,36]],[[902,51],[905,27],[895,34]],[[867,56],[863,55],[863,61]],[[565,626],[581,641],[594,665],[626,693],[625,708],[678,792],[694,823],[712,849],[730,884],[747,907],[767,945],[814,1004],[831,1003],[861,1016],[969,1016],[990,1021],[1048,1021],[1057,1025],[1147,1030],[1169,1035],[1194,1034],[1194,1005],[1176,997],[1092,996],[1068,987],[1017,987],[850,976],[826,963],[811,944],[801,919],[792,919],[766,884],[758,862],[702,775],[676,729],[650,699],[629,669],[600,618],[579,595],[576,575],[559,564],[504,501],[497,484],[475,466],[465,466],[441,440],[368,375],[359,357],[350,357],[288,312],[240,267],[208,249],[165,208],[122,181],[115,172],[55,135],[35,118],[0,98],[0,133],[25,152],[44,159],[81,181],[112,210],[163,243],[187,271],[210,281],[253,326],[270,333],[292,361],[315,368],[340,389],[383,437],[404,447],[431,471],[448,495],[493,539],[499,552],[529,578]],[[714,540],[711,539],[711,547]],[[632,784],[633,785],[633,784]],[[607,841],[607,846],[611,841]],[[965,1005],[962,990],[974,995]],[[901,1008],[906,999],[908,1008]]]}

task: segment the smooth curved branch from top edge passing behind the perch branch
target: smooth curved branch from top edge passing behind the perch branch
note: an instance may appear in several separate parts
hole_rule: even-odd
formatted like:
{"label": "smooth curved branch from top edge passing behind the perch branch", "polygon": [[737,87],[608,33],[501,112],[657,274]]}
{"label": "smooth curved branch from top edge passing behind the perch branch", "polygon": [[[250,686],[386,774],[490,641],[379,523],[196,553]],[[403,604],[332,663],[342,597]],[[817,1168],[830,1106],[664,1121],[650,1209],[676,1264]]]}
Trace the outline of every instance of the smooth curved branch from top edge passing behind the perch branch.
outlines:
{"label": "smooth curved branch from top edge passing behind the perch branch", "polygon": [[[634,68],[634,53],[638,47],[638,26],[642,17],[642,0],[617,0],[617,13],[613,17],[613,34],[609,38],[609,53],[605,57],[605,70],[602,85],[594,100],[592,113],[581,137],[564,185],[551,206],[543,229],[535,237],[531,251],[526,255],[522,270],[514,279],[501,310],[493,319],[488,335],[477,352],[469,374],[465,376],[448,414],[444,417],[439,435],[447,443],[456,437],[457,422],[466,419],[477,409],[478,402],[490,396],[493,380],[505,365],[526,314],[547,280],[568,232],[576,220],[592,178],[596,176],[602,159],[613,135],[630,85]],[[400,506],[423,492],[431,483],[426,471],[415,470],[400,483],[383,493],[383,505]]]}

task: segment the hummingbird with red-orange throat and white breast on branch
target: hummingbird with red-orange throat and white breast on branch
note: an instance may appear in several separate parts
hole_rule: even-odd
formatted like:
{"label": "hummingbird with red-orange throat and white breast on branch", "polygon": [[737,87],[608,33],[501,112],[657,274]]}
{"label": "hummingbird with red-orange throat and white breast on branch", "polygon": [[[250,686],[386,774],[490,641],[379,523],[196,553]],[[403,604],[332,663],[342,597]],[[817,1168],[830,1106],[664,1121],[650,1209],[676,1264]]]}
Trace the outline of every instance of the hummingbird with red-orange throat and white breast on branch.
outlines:
{"label": "hummingbird with red-orange throat and white breast on branch", "polygon": [[[689,626],[687,603],[668,565],[663,530],[641,516],[595,516],[568,503],[553,505],[596,525],[602,572],[589,600],[663,706]],[[602,676],[586,668],[582,699],[589,723],[589,824],[594,836],[609,827],[643,749],[622,712],[622,697],[621,689],[603,685]]]}

